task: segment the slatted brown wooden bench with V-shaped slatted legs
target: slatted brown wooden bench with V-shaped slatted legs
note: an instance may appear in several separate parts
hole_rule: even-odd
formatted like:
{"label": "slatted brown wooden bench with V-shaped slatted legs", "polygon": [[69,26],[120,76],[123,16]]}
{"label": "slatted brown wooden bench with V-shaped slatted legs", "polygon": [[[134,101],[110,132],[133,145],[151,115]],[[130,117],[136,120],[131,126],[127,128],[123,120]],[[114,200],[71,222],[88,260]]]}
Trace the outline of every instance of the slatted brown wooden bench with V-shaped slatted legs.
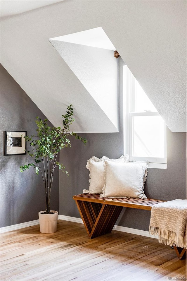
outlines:
{"label": "slatted brown wooden bench with V-shaped slatted legs", "polygon": [[[90,239],[112,231],[122,208],[151,210],[153,205],[165,201],[154,199],[99,198],[98,194],[73,196]],[[186,249],[174,247],[181,259]]]}

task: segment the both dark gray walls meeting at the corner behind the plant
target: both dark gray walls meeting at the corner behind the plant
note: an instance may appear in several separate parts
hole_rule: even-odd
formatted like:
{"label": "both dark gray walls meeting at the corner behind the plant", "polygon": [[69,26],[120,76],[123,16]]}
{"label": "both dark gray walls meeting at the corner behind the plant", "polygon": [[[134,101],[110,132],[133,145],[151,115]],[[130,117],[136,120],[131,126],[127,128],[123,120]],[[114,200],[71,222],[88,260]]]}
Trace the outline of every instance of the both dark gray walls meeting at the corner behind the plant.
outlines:
{"label": "both dark gray walls meeting at the corner behind the plant", "polygon": [[[69,177],[60,173],[60,214],[80,217],[72,196],[89,187],[89,171],[85,165],[91,156],[118,158],[123,154],[122,95],[120,95],[120,133],[82,134],[88,142],[72,140],[72,147],[60,153]],[[19,172],[20,165],[30,162],[28,155],[4,156],[4,131],[35,132],[36,116],[45,118],[20,86],[1,66],[1,227],[38,219],[45,209],[44,188],[33,169]],[[150,198],[173,200],[186,198],[186,133],[167,129],[167,169],[148,169],[145,193]],[[59,209],[59,175],[56,171],[51,208]],[[150,212],[125,209],[117,224],[148,230]]]}

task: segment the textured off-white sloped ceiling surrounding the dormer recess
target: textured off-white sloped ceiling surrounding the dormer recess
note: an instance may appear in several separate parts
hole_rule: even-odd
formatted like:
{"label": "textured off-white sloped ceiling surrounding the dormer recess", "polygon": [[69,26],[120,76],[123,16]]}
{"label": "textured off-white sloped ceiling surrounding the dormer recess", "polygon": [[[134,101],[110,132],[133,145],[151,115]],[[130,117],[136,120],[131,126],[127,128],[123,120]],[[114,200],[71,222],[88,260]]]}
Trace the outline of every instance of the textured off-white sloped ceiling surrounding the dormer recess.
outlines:
{"label": "textured off-white sloped ceiling surrounding the dormer recess", "polygon": [[47,40],[97,27],[170,130],[186,131],[186,1],[61,1],[4,17],[1,64],[54,125],[72,103],[74,131],[116,131]]}

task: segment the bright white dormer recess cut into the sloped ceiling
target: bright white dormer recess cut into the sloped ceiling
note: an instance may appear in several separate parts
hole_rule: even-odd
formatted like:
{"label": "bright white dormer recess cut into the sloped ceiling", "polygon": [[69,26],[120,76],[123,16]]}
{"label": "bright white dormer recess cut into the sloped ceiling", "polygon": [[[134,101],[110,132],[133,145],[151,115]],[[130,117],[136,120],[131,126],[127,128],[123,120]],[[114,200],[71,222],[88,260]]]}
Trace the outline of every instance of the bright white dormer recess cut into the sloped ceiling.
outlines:
{"label": "bright white dormer recess cut into the sloped ceiling", "polygon": [[[118,132],[119,60],[114,57],[115,47],[103,29],[51,38],[49,42],[115,126],[114,132]],[[111,128],[103,130],[110,132]]]}

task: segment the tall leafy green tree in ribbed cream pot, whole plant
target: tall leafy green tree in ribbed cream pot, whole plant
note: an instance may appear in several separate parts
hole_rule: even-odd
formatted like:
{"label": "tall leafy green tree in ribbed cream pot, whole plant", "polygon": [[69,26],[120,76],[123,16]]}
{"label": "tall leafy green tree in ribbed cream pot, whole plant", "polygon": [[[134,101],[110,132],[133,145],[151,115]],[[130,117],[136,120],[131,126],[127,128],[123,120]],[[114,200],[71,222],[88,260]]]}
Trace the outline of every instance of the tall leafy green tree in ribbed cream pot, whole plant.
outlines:
{"label": "tall leafy green tree in ribbed cream pot, whole plant", "polygon": [[[68,135],[70,132],[69,126],[75,121],[72,116],[73,108],[72,104],[70,104],[67,107],[66,114],[62,115],[62,127],[51,128],[47,125],[47,119],[42,121],[37,117],[35,121],[37,124],[37,134],[24,137],[32,148],[27,153],[31,156],[33,163],[20,166],[20,172],[34,167],[36,174],[38,175],[40,172],[44,181],[46,210],[39,212],[40,232],[42,233],[53,233],[57,230],[58,212],[50,209],[51,188],[53,185],[54,170],[57,167],[68,175],[65,166],[57,162],[56,159],[61,149],[71,146]],[[71,132],[70,135],[86,143],[86,139],[78,136],[76,133]]]}

